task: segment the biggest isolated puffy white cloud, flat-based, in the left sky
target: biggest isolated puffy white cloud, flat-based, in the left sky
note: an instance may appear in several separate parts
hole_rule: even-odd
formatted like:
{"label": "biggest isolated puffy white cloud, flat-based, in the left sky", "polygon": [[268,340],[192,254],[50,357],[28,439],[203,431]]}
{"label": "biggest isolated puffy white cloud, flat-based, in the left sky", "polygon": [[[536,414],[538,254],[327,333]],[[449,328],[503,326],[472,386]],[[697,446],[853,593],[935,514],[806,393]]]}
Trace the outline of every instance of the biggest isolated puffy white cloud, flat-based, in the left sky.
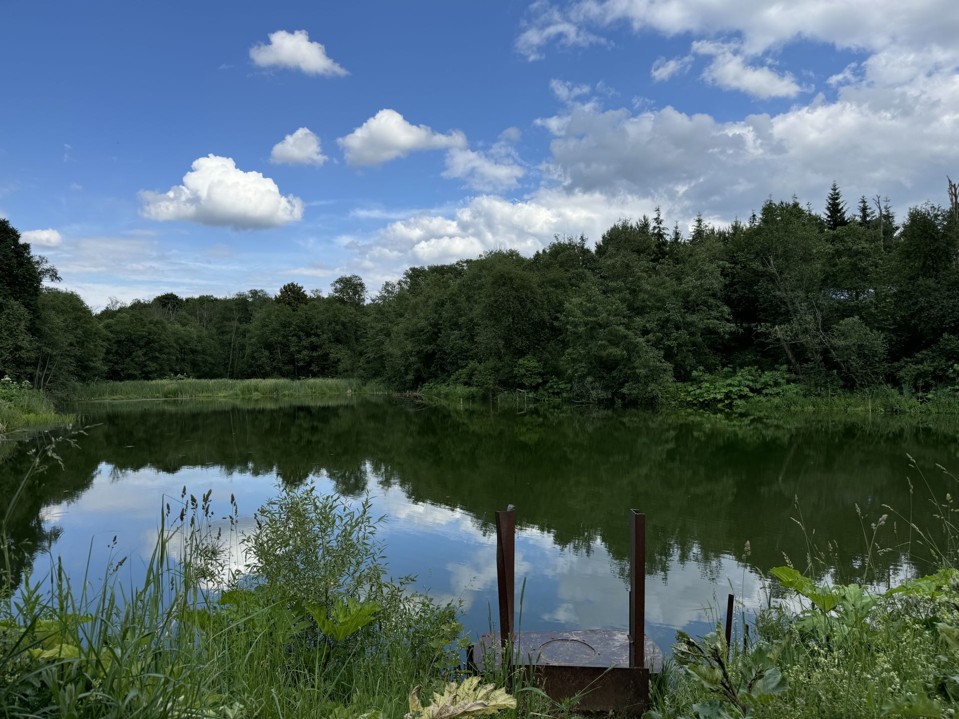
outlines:
{"label": "biggest isolated puffy white cloud, flat-based, in the left sky", "polygon": [[303,200],[281,195],[269,177],[239,170],[230,157],[194,161],[183,184],[165,193],[140,192],[140,214],[150,220],[190,220],[237,229],[280,227],[303,217]]}

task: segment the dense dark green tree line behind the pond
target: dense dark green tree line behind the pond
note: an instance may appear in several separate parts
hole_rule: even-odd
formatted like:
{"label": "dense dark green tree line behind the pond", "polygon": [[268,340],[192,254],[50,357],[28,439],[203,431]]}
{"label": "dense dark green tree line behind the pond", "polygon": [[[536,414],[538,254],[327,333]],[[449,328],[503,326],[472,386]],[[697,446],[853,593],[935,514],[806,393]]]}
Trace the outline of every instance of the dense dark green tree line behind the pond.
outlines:
{"label": "dense dark green tree line behind the pond", "polygon": [[684,236],[621,220],[591,246],[556,238],[411,267],[369,296],[356,275],[328,296],[295,283],[232,297],[167,293],[94,315],[43,287],[56,269],[0,220],[0,372],[69,383],[351,376],[397,389],[455,383],[655,404],[693,373],[785,366],[813,388],[927,391],[959,361],[959,207],[888,200],[851,212],[768,200]]}

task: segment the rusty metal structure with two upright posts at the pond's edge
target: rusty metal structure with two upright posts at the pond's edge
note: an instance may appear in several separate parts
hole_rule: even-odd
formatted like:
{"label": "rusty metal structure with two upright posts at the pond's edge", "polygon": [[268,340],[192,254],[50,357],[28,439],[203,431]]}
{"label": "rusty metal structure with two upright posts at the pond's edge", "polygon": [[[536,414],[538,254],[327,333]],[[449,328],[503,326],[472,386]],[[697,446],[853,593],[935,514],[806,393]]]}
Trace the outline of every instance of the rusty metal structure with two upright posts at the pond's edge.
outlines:
{"label": "rusty metal structure with two upright posts at the pond's edge", "polygon": [[[516,632],[514,627],[516,511],[496,513],[496,568],[500,632],[479,641],[483,666],[503,662],[526,673],[552,699],[580,697],[580,711],[616,710],[639,717],[649,704],[649,675],[663,653],[643,632],[645,515],[630,512],[629,631],[587,629]],[[474,653],[471,652],[471,655]],[[513,676],[513,673],[509,673]]]}

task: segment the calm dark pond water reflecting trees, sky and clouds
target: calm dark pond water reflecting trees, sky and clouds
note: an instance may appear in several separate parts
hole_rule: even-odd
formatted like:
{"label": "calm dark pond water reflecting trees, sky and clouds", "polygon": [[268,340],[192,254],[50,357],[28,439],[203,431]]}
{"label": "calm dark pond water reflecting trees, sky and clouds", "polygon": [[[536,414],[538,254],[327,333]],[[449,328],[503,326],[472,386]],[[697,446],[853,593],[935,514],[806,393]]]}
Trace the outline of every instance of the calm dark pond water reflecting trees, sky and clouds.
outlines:
{"label": "calm dark pond water reflecting trees, sky and clouds", "polygon": [[[524,627],[622,628],[634,507],[647,517],[647,634],[663,646],[675,629],[705,627],[701,608],[713,592],[724,598],[732,585],[757,606],[763,572],[784,564],[784,554],[804,567],[806,538],[790,519],[800,511],[818,545],[838,545],[836,575],[852,579],[865,560],[863,527],[872,533],[870,523],[888,512],[882,504],[903,515],[911,506],[918,524],[936,523],[907,453],[941,497],[956,488],[935,463],[959,469],[954,420],[517,413],[375,398],[108,403],[82,413],[97,426],[78,448],[62,449],[63,468],[40,475],[14,507],[13,540],[35,547],[36,572],[50,567],[48,552],[78,575],[92,555],[95,578],[113,551],[129,555],[124,570],[135,581],[165,495],[178,498],[184,484],[198,497],[212,489],[219,516],[234,494],[248,523],[277,482],[313,477],[351,498],[370,493],[389,518],[382,537],[391,571],[462,599],[473,632],[487,627],[495,603],[493,512],[507,503],[518,511]],[[3,511],[27,450],[42,441],[4,452]],[[881,544],[897,543],[894,519],[880,529]],[[896,529],[907,537],[903,522]],[[912,561],[901,551],[873,557],[886,581]]]}

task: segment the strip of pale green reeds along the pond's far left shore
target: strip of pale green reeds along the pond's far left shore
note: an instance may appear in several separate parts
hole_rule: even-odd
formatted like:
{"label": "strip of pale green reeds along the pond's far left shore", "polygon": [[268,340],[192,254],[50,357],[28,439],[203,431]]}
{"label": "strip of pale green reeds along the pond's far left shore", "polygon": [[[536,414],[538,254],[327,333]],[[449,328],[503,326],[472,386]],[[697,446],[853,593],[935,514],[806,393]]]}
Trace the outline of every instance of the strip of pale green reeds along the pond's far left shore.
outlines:
{"label": "strip of pale green reeds along the pond's far left shore", "polygon": [[348,392],[378,392],[383,388],[359,380],[128,380],[79,385],[71,399],[168,400],[228,397],[320,397]]}

